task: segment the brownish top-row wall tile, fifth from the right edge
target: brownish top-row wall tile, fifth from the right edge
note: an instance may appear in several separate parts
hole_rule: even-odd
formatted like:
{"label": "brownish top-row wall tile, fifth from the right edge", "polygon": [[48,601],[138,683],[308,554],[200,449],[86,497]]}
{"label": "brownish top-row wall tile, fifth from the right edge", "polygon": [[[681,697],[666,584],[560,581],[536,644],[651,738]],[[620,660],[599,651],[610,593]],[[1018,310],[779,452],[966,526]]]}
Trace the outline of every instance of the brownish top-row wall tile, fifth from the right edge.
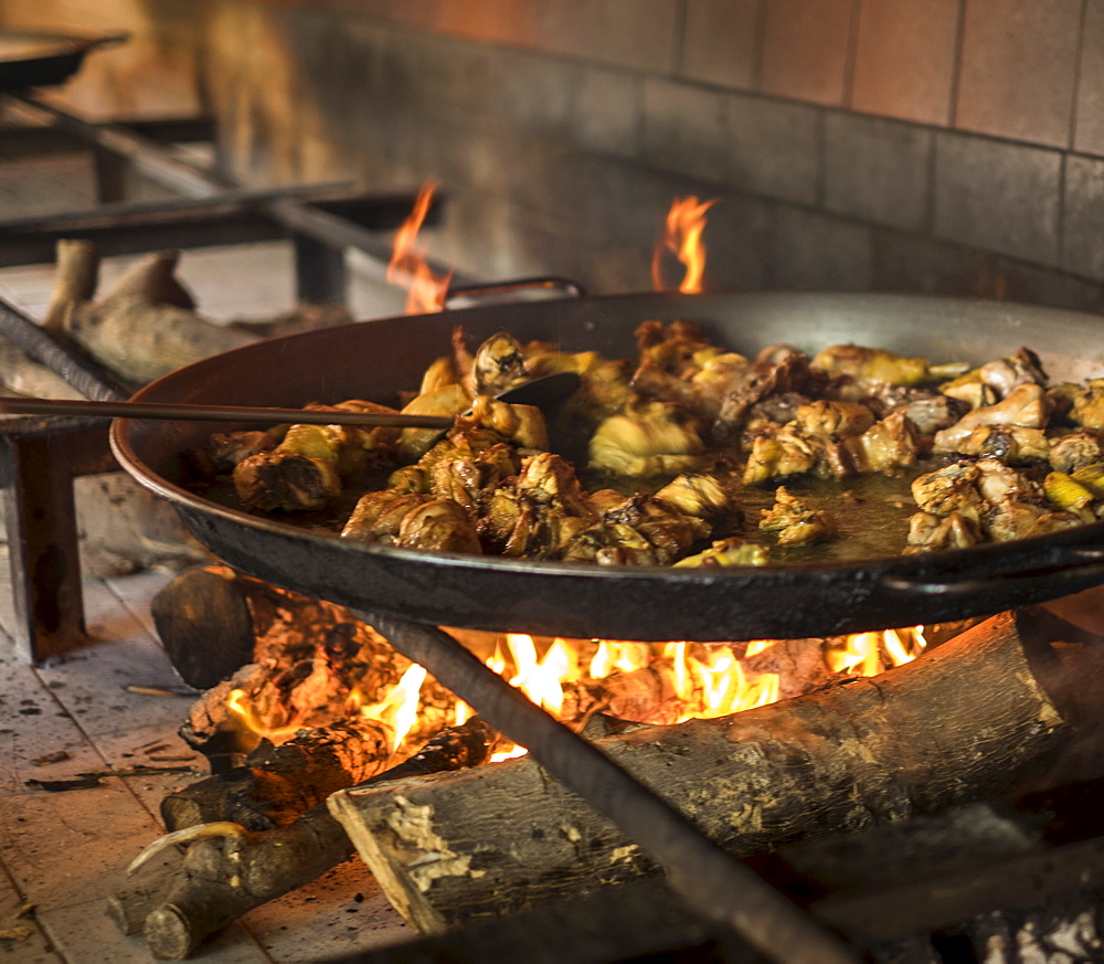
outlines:
{"label": "brownish top-row wall tile, fifth from the right edge", "polygon": [[679,73],[752,91],[763,0],[689,0]]}

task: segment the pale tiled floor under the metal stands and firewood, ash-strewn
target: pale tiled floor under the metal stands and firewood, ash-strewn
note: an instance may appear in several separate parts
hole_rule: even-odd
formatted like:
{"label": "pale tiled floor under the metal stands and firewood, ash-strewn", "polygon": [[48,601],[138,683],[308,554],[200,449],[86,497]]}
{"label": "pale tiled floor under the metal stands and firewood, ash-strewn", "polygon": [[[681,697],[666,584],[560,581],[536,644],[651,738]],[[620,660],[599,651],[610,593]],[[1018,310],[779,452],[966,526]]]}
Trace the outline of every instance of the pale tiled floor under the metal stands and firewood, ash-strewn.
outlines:
{"label": "pale tiled floor under the metal stands and firewood, ash-strewn", "polygon": [[[0,156],[0,218],[86,208],[91,199],[87,157],[4,163]],[[105,264],[103,284],[128,261]],[[212,317],[258,317],[291,305],[291,256],[283,243],[189,252],[180,276]],[[52,279],[49,266],[6,268],[0,293],[41,315]],[[393,298],[401,304],[400,294]],[[176,734],[188,699],[126,689],[179,684],[149,615],[167,579],[86,580],[88,646],[32,668],[15,656],[11,585],[0,558],[0,964],[152,960],[140,937],[117,932],[104,901],[123,882],[126,865],[163,833],[160,798],[204,770]],[[194,772],[106,776],[99,786],[64,792],[28,784],[137,763],[172,765],[149,760],[144,748],[155,744],[169,748],[158,755],[189,756]],[[65,755],[60,762],[35,762],[59,753]],[[317,962],[411,936],[353,860],[251,912],[197,960]]]}

